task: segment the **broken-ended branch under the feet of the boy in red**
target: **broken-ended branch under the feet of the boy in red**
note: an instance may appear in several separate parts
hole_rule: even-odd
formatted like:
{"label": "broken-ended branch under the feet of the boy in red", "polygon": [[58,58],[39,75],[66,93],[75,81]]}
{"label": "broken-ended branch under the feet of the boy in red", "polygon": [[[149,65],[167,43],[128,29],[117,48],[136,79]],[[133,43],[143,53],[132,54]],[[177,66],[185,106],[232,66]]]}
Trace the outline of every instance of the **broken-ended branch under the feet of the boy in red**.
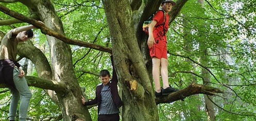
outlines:
{"label": "broken-ended branch under the feet of the boy in red", "polygon": [[215,93],[223,93],[223,91],[217,88],[209,87],[207,85],[192,83],[185,89],[171,93],[167,96],[157,97],[156,103],[170,103],[195,94],[215,95]]}

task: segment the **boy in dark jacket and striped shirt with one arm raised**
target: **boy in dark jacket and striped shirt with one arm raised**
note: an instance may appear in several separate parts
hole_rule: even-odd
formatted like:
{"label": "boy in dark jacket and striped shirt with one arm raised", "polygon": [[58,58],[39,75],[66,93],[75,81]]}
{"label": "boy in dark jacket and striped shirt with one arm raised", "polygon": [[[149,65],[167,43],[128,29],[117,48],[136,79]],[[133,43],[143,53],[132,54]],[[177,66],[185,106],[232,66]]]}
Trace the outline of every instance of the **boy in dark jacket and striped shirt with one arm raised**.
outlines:
{"label": "boy in dark jacket and striped shirt with one arm raised", "polygon": [[85,106],[98,104],[98,120],[120,120],[119,108],[123,106],[123,102],[118,95],[117,90],[117,76],[113,64],[113,56],[111,56],[111,63],[113,67],[113,77],[110,80],[110,73],[108,70],[102,70],[99,73],[102,83],[96,87],[95,99],[86,102],[82,97],[82,104]]}

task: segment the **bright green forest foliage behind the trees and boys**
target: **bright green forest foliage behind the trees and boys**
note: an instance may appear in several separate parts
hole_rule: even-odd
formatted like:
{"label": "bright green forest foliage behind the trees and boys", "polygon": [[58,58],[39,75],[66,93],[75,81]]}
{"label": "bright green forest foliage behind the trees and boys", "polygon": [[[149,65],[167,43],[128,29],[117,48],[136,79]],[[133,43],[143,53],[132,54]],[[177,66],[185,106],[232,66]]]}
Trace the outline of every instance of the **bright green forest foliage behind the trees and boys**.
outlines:
{"label": "bright green forest foliage behind the trees and boys", "polygon": [[[0,1],[1,2],[1,1]],[[68,38],[111,47],[110,33],[104,6],[101,1],[55,0],[54,7],[61,18]],[[202,68],[210,73],[211,86],[224,94],[212,96],[216,120],[255,120],[255,0],[187,1],[177,18],[170,24],[168,38],[169,82],[184,89],[192,82],[203,84]],[[11,10],[29,16],[21,3],[1,3]],[[117,10],[118,11],[118,10]],[[1,20],[11,19],[0,13]],[[0,33],[19,23],[1,25]],[[49,49],[44,34],[36,30],[32,43],[40,48],[47,58]],[[95,87],[100,83],[98,72],[111,70],[109,54],[77,45],[72,48],[73,66],[80,87],[89,99],[95,97]],[[208,51],[208,63],[201,57]],[[31,63],[29,63],[31,64]],[[30,66],[33,68],[32,64]],[[31,69],[29,76],[37,76]],[[30,87],[33,93],[28,117],[31,120],[55,118],[61,115],[59,107],[39,88]],[[10,93],[0,94],[0,119],[8,117]],[[207,120],[202,94],[185,98],[185,101],[158,105],[160,120]],[[97,107],[89,109],[92,119],[97,119]]]}

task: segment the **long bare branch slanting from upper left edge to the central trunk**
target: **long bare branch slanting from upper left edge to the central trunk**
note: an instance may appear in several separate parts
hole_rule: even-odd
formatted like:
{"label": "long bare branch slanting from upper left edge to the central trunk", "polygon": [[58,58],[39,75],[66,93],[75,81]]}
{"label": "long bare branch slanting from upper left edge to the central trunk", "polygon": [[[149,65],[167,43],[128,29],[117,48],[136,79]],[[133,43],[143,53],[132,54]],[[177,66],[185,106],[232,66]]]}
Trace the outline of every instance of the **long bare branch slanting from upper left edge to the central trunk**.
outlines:
{"label": "long bare branch slanting from upper left edge to the central trunk", "polygon": [[112,49],[105,47],[105,46],[101,46],[101,45],[96,45],[96,44],[92,44],[89,42],[83,42],[83,41],[79,41],[79,40],[73,40],[73,39],[69,39],[67,37],[65,37],[63,34],[58,33],[57,31],[54,31],[48,27],[46,27],[44,24],[38,22],[37,20],[28,18],[27,16],[24,16],[18,12],[12,11],[2,5],[0,5],[0,11],[4,12],[5,14],[8,14],[10,16],[12,16],[15,19],[27,22],[29,24],[32,24],[38,28],[41,29],[41,32],[44,34],[48,34],[49,36],[55,37],[67,44],[71,44],[71,45],[78,45],[78,46],[83,46],[83,47],[89,47],[89,48],[93,48],[99,51],[105,51],[107,53],[112,53]]}

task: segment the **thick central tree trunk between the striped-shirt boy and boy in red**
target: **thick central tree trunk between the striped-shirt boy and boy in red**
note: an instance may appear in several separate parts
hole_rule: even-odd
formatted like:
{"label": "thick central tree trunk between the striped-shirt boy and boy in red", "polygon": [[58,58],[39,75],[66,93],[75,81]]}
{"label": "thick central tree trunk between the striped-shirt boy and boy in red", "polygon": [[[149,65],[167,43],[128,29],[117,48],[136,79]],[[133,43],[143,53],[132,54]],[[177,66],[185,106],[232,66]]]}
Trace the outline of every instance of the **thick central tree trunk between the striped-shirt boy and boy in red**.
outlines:
{"label": "thick central tree trunk between the striped-shirt boy and boy in red", "polygon": [[[103,1],[113,46],[114,64],[123,88],[123,120],[159,120],[155,94],[135,36],[128,1]],[[117,11],[118,10],[118,11]],[[133,90],[131,85],[138,87]]]}

